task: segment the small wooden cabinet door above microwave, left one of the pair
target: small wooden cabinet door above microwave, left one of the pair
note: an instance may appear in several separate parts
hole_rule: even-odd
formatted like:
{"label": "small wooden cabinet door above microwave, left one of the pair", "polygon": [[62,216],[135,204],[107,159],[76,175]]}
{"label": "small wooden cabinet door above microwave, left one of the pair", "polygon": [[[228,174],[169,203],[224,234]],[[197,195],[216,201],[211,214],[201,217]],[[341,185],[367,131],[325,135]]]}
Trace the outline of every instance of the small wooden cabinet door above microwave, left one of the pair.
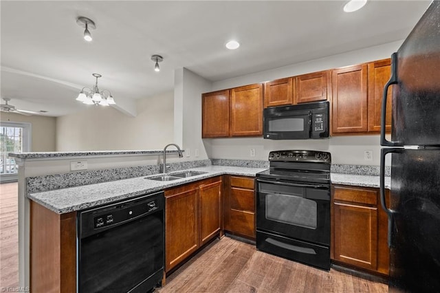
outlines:
{"label": "small wooden cabinet door above microwave, left one of the pair", "polygon": [[292,105],[296,78],[281,78],[265,83],[264,107]]}

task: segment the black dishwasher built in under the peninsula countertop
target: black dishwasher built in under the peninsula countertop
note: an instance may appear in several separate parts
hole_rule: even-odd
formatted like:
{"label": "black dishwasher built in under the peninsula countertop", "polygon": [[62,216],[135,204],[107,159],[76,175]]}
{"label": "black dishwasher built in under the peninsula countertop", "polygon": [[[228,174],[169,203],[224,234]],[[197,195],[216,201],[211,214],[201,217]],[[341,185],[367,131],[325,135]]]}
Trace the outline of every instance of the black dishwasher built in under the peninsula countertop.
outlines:
{"label": "black dishwasher built in under the peninsula countertop", "polygon": [[148,292],[164,272],[164,193],[78,212],[78,292]]}

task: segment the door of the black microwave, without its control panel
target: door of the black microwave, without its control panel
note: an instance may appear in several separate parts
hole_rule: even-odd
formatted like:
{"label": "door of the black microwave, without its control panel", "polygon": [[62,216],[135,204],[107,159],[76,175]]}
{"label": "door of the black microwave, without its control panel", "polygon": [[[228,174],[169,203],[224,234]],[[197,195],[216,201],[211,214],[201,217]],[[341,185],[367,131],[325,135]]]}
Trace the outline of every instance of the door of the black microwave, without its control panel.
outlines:
{"label": "door of the black microwave, without its control panel", "polygon": [[310,138],[311,111],[272,107],[263,110],[263,138],[306,140]]}

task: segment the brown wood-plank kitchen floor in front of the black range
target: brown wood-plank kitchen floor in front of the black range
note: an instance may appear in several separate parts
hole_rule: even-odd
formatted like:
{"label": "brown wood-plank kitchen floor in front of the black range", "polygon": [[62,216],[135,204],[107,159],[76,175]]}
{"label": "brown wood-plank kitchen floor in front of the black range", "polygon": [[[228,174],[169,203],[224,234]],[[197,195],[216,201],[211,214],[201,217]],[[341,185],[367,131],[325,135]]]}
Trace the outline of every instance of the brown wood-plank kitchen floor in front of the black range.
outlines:
{"label": "brown wood-plank kitchen floor in front of the black range", "polygon": [[311,268],[223,237],[170,274],[158,292],[388,292],[388,285]]}

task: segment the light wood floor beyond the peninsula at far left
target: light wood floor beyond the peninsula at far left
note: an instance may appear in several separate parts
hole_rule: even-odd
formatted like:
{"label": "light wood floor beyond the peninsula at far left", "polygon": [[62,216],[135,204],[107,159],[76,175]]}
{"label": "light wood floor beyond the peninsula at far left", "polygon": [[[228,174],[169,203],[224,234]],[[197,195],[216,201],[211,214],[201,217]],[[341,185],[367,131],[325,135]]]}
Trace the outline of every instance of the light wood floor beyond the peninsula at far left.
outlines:
{"label": "light wood floor beyond the peninsula at far left", "polygon": [[19,285],[18,184],[0,184],[0,288]]}

